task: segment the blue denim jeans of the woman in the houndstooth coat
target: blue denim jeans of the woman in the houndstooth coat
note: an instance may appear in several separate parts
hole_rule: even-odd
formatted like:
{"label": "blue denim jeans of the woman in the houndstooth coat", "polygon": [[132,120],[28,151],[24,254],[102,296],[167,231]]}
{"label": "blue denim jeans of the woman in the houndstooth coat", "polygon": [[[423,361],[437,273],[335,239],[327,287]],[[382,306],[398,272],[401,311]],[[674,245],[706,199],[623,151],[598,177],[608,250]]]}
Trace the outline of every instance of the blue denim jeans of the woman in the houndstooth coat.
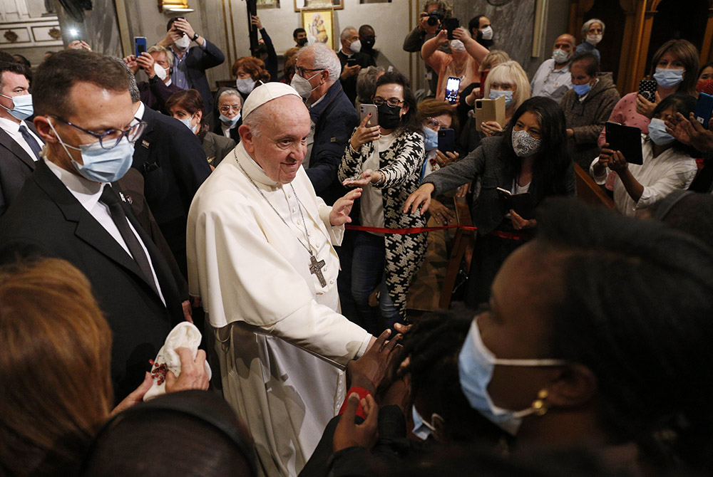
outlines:
{"label": "blue denim jeans of the woman in the houndstooth coat", "polygon": [[352,260],[352,296],[356,311],[361,318],[360,325],[372,335],[381,331],[376,322],[376,309],[369,306],[369,295],[381,282],[379,290],[379,310],[386,327],[393,330],[394,323],[399,323],[399,310],[389,296],[384,275],[384,237],[358,232],[354,240],[354,258]]}

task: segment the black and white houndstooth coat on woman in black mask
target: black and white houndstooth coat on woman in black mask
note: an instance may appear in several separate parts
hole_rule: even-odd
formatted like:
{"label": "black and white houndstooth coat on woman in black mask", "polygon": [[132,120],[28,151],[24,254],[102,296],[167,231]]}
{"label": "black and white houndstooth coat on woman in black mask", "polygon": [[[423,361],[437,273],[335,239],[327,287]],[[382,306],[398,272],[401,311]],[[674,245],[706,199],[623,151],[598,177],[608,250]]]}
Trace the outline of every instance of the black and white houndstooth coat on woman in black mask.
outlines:
{"label": "black and white houndstooth coat on woman in black mask", "polygon": [[[339,181],[361,174],[361,164],[371,154],[374,154],[373,142],[361,146],[359,152],[353,150],[352,145],[347,145],[339,166]],[[426,226],[426,216],[404,214],[406,199],[421,185],[424,157],[424,140],[418,132],[401,132],[389,149],[379,152],[379,172],[384,174],[384,182],[379,189],[384,200],[384,227],[387,229]],[[406,318],[406,295],[411,280],[426,256],[427,239],[425,233],[385,234],[384,237],[386,287],[402,319]]]}

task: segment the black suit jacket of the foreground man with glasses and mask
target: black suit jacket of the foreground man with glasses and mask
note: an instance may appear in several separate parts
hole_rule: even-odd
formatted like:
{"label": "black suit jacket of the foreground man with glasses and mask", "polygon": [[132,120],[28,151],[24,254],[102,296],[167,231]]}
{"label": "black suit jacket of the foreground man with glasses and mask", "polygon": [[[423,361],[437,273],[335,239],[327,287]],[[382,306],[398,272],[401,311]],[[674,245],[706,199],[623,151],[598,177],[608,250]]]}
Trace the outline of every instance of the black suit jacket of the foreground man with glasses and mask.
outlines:
{"label": "black suit jacket of the foreground man with glasses and mask", "polygon": [[[126,216],[148,249],[165,298],[150,287],[138,265],[77,201],[43,162],[0,220],[0,247],[63,258],[89,279],[111,327],[111,378],[116,401],[143,381],[166,336],[183,320],[180,297],[170,269],[130,206]],[[87,377],[91,379],[91,377]]]}

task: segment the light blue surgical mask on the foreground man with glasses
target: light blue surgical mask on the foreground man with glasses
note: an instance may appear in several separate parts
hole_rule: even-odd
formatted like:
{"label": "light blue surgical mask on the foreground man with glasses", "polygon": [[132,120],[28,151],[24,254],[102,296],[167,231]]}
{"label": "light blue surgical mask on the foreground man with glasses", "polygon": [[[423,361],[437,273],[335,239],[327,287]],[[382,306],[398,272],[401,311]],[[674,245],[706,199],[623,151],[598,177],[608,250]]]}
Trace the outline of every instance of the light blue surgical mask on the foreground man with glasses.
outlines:
{"label": "light blue surgical mask on the foreground man with glasses", "polygon": [[123,137],[118,145],[111,149],[104,149],[99,142],[74,147],[63,142],[54,129],[52,121],[49,118],[47,119],[59,143],[64,148],[64,152],[70,158],[72,154],[69,153],[67,148],[81,151],[83,164],[79,164],[74,159],[71,160],[72,165],[82,177],[93,182],[114,182],[124,177],[124,174],[130,169],[133,162],[134,147],[126,137]]}

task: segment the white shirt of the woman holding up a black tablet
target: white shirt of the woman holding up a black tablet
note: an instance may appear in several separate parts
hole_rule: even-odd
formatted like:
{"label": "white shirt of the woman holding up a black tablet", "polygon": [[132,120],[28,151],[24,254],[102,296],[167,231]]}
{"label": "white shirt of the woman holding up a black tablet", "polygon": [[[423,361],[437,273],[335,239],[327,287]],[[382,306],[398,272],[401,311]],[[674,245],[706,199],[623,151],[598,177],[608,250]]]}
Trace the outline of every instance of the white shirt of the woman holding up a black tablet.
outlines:
{"label": "white shirt of the woman holding up a black tablet", "polygon": [[[614,204],[623,215],[630,217],[640,215],[642,209],[660,201],[675,189],[688,189],[698,170],[696,159],[688,154],[678,152],[671,147],[659,154],[658,157],[654,157],[651,140],[648,140],[646,135],[641,135],[641,142],[643,164],[628,165],[632,176],[644,186],[644,192],[639,200],[634,201],[626,192],[618,174],[614,183]],[[599,157],[593,160],[589,170],[597,184],[602,185],[607,181],[609,169],[605,169],[604,174],[600,176],[595,175],[594,164],[598,160]]]}

